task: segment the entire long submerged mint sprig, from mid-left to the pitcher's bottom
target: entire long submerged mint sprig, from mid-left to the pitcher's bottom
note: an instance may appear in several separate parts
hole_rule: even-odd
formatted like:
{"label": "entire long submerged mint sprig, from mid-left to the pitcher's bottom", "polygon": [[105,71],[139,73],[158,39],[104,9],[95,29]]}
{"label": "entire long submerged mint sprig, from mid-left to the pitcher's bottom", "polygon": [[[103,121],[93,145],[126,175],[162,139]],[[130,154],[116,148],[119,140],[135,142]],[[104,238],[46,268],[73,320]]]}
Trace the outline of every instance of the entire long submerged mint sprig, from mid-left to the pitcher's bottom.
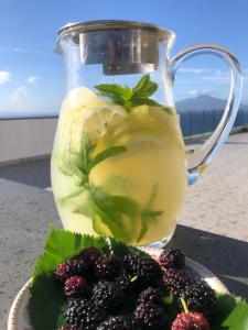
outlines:
{"label": "entire long submerged mint sprig, from mid-left to the pitcher's bottom", "polygon": [[[58,200],[63,206],[71,198],[85,194],[84,204],[74,209],[74,213],[84,215],[91,219],[93,229],[99,235],[115,237],[129,243],[137,240],[133,231],[133,222],[141,218],[141,230],[138,237],[140,242],[147,234],[149,223],[155,221],[163,213],[151,208],[155,193],[151,193],[148,205],[144,209],[133,199],[127,196],[109,195],[103,188],[89,183],[90,170],[107,158],[121,155],[127,151],[125,145],[116,145],[94,154],[95,145],[89,141],[88,134],[83,133],[82,145],[78,153],[63,152],[57,154],[57,165],[65,175],[73,177],[78,186],[76,191]],[[138,220],[139,221],[139,220]]]}

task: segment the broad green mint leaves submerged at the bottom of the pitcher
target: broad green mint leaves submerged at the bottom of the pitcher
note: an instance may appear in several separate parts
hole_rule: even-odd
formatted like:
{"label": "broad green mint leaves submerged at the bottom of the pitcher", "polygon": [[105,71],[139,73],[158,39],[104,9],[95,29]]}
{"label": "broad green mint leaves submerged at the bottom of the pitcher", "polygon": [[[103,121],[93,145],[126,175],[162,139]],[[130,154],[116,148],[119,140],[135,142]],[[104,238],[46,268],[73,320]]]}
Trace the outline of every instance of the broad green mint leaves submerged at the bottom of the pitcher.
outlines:
{"label": "broad green mint leaves submerged at the bottom of the pitcher", "polygon": [[[125,243],[137,240],[139,243],[148,233],[149,224],[163,215],[163,211],[152,209],[152,201],[142,209],[137,201],[129,197],[109,195],[100,187],[90,186],[84,205],[76,208],[74,213],[90,218],[93,229],[99,235],[112,235]],[[137,234],[133,231],[133,223],[139,221],[139,217],[141,230]]]}

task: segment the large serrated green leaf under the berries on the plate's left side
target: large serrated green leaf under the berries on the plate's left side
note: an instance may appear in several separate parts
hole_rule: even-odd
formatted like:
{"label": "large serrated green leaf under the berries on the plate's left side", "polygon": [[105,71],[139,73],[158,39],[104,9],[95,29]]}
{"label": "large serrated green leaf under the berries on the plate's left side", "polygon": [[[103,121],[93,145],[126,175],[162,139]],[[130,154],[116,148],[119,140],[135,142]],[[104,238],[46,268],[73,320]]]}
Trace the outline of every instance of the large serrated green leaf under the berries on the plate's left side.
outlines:
{"label": "large serrated green leaf under the berries on the plate's left side", "polygon": [[142,253],[112,239],[109,241],[51,227],[44,253],[39,257],[32,274],[28,312],[33,329],[56,330],[65,323],[63,285],[55,279],[54,271],[64,260],[77,255],[88,246],[96,246],[103,252],[111,249],[120,257],[127,253]]}

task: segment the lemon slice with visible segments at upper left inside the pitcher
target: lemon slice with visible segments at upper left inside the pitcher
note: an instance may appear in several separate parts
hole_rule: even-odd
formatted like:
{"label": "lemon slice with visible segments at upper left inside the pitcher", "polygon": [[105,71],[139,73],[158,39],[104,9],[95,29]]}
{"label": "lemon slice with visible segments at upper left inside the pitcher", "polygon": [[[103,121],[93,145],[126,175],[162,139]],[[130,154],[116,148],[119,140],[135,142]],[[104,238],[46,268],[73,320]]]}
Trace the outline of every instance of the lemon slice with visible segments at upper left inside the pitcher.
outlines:
{"label": "lemon slice with visible segments at upper left inside the pitcher", "polygon": [[97,142],[108,129],[118,127],[127,116],[121,106],[101,100],[74,110],[72,118],[64,121],[63,148],[79,151],[83,132],[88,133],[91,142]]}

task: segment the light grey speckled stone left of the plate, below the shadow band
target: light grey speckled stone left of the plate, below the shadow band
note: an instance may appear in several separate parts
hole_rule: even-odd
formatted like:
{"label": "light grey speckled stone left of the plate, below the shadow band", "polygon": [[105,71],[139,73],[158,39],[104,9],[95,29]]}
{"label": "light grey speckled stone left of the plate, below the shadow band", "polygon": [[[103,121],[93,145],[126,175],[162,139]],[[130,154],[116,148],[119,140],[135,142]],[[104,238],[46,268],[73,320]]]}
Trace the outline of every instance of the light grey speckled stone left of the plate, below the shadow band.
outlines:
{"label": "light grey speckled stone left of the plate, below the shadow band", "polygon": [[30,278],[50,223],[61,222],[51,193],[6,179],[0,189],[0,330],[6,330],[11,302]]}

